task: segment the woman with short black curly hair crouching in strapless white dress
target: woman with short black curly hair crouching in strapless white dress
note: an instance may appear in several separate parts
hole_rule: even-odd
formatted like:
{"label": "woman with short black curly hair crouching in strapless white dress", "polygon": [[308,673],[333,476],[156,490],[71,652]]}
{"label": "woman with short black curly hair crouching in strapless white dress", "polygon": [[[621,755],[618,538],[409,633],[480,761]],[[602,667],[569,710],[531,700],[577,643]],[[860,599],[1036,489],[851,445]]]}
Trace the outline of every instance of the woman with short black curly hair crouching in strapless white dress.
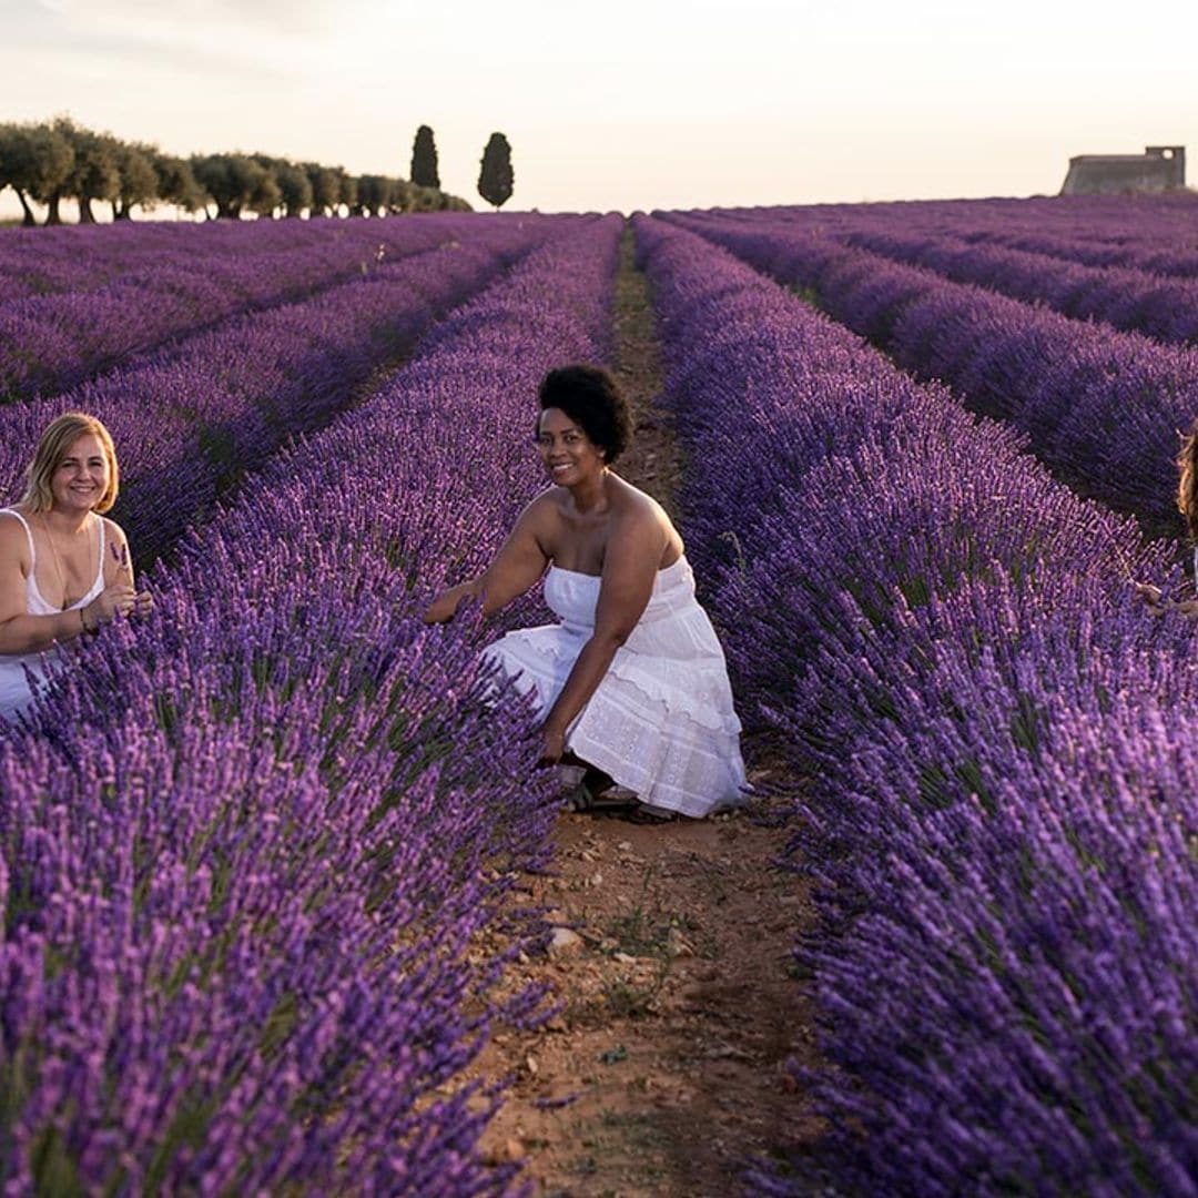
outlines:
{"label": "woman with short black curly hair crouching in strapless white dress", "polygon": [[581,773],[568,805],[615,805],[617,787],[662,817],[736,805],[745,772],[724,652],[670,518],[612,470],[630,434],[624,400],[591,365],[550,371],[538,398],[553,485],[488,569],[438,595],[424,621],[478,597],[490,615],[545,575],[561,623],[509,633],[485,657],[533,697],[543,761]]}

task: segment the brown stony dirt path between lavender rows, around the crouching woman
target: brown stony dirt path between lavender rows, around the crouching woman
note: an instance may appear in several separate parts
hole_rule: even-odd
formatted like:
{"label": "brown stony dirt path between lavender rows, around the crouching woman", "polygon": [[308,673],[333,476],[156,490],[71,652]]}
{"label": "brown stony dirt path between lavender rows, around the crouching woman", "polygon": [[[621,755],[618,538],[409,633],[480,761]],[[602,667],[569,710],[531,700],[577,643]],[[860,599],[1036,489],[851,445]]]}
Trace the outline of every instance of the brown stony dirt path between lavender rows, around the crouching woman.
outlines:
{"label": "brown stony dirt path between lavender rows, around the crouching woman", "polygon": [[[615,327],[637,420],[621,473],[673,510],[679,462],[651,407],[655,329],[630,237]],[[772,781],[751,745],[746,757],[751,781]],[[812,1060],[813,1036],[791,972],[807,900],[774,865],[783,806],[652,825],[561,816],[557,873],[526,896],[551,909],[555,945],[521,973],[550,980],[562,1012],[537,1033],[497,1031],[480,1063],[514,1076],[486,1150],[522,1160],[536,1194],[724,1198],[748,1158],[817,1133],[787,1069]]]}

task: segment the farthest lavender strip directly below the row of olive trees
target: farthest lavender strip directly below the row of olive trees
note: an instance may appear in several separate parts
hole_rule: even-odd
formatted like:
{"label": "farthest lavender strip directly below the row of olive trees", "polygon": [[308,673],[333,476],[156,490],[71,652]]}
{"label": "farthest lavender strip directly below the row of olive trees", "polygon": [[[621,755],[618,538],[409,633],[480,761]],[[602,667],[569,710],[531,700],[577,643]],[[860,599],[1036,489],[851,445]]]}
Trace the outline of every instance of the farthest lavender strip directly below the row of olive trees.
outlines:
{"label": "farthest lavender strip directly below the row of olive trees", "polygon": [[[373,229],[394,234],[386,225]],[[344,230],[345,222],[321,220],[119,220],[5,229],[0,230],[0,296],[18,300],[87,290],[165,260],[286,255],[304,246],[319,248],[329,240],[341,240]]]}

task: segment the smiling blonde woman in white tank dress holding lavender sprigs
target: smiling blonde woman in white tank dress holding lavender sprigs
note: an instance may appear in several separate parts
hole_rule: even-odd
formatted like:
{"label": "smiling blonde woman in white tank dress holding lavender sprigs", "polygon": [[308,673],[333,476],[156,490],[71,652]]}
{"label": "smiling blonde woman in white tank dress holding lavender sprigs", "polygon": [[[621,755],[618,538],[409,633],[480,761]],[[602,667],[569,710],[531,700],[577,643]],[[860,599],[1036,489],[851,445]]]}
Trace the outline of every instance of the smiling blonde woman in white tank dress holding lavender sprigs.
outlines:
{"label": "smiling blonde woman in white tank dress holding lavender sprigs", "polygon": [[18,504],[0,508],[0,726],[34,702],[59,646],[117,616],[149,611],[116,502],[116,452],[92,416],[67,412],[42,434]]}

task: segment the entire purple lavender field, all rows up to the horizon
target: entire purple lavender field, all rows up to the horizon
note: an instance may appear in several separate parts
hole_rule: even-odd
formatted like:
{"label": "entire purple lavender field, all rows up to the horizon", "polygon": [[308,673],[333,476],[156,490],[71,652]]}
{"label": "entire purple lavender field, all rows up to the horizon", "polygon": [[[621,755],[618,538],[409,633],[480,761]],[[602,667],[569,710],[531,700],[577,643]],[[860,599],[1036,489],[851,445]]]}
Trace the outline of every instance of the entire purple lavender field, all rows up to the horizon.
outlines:
{"label": "entire purple lavender field, all rows up to the horizon", "polygon": [[[1198,623],[1130,585],[1192,592],[1198,204],[630,228],[688,555],[815,901],[825,1130],[736,1185],[1198,1196]],[[419,612],[543,485],[540,376],[611,361],[623,229],[0,234],[5,502],[95,412],[155,594],[0,734],[6,1193],[522,1191],[474,1066],[555,1010],[508,967],[549,940],[514,900],[557,795],[488,706],[494,629]]]}

